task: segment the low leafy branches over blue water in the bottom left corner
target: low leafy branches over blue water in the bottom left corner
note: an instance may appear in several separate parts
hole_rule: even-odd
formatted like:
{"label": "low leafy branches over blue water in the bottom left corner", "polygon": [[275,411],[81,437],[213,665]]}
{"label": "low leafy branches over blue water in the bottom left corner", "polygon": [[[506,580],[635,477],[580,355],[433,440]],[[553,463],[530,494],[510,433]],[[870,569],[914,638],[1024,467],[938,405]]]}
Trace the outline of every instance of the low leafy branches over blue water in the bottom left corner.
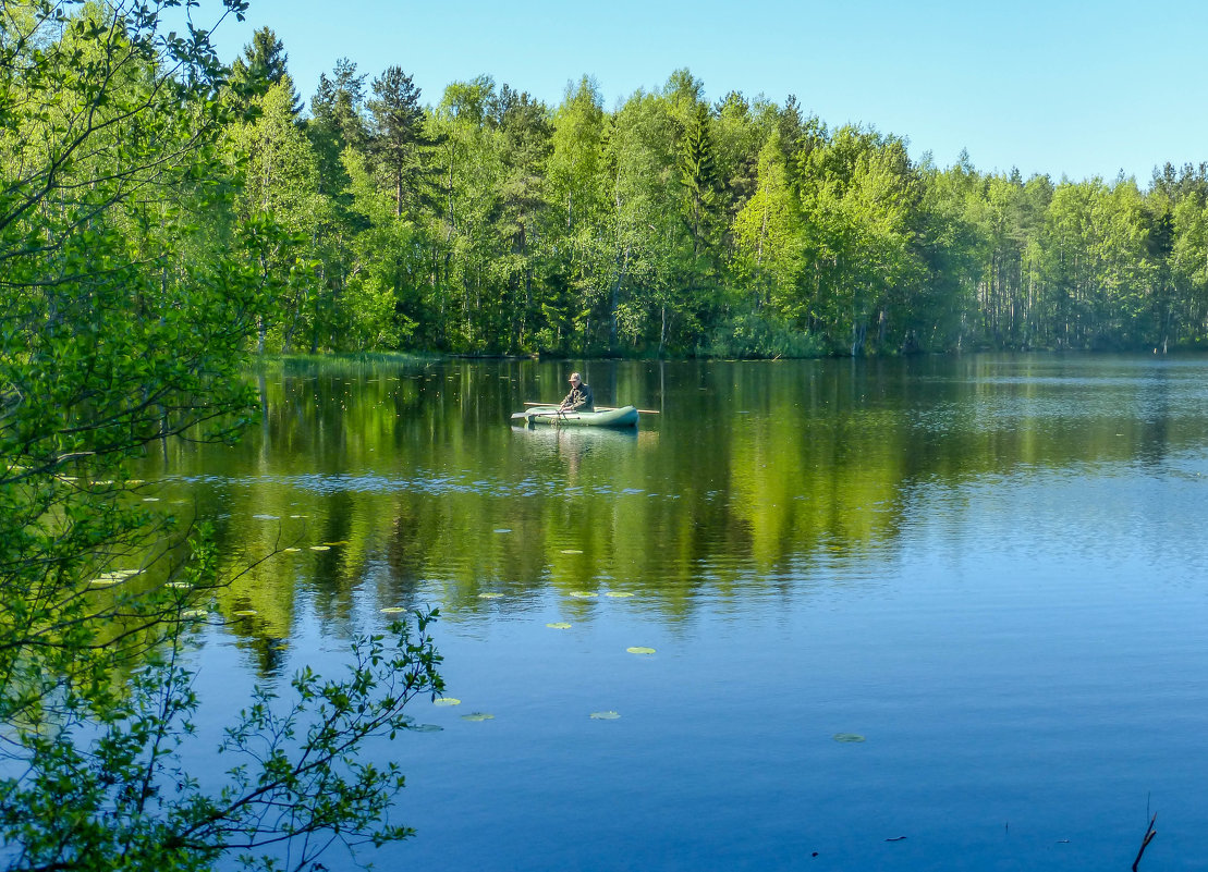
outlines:
{"label": "low leafy branches over blue water in the bottom left corner", "polygon": [[29,766],[0,780],[0,831],[19,847],[7,868],[100,871],[121,858],[126,870],[205,870],[233,853],[248,868],[302,870],[326,848],[318,833],[349,849],[411,836],[389,821],[399,767],[365,763],[356,750],[414,727],[403,707],[443,690],[426,630],[434,616],[356,639],[342,678],[302,669],[288,705],[256,688],[217,748],[217,785],[182,758],[196,743],[198,698],[175,655],[188,621],[175,623],[124,692],[69,687],[53,717],[22,726]]}

